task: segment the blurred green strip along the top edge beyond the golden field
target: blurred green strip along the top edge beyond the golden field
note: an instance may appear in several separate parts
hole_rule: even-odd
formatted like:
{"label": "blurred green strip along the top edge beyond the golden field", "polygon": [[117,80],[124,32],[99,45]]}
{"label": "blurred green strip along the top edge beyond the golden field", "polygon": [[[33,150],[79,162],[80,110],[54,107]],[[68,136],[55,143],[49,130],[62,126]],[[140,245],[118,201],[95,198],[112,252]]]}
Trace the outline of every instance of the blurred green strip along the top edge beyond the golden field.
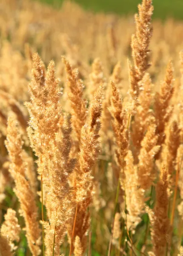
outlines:
{"label": "blurred green strip along the top edge beyond the golden field", "polygon": [[[63,3],[63,0],[40,1],[56,7],[61,6]],[[137,12],[137,4],[141,0],[75,0],[75,2],[94,12],[113,12],[119,15],[126,15]],[[173,17],[177,20],[183,20],[183,0],[153,0],[153,5],[155,18],[164,20],[167,17]]]}

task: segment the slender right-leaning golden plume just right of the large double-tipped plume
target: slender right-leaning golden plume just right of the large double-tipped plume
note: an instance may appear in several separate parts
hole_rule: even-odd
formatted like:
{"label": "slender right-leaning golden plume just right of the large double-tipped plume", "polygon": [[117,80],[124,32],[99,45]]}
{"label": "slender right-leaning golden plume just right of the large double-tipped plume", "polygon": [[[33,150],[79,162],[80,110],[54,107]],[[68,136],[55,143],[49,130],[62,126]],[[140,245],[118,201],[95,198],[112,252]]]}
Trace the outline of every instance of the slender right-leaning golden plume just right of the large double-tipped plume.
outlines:
{"label": "slender right-leaning golden plume just right of the large double-tipped plume", "polygon": [[82,202],[86,198],[88,189],[91,189],[93,186],[91,184],[93,179],[91,171],[100,151],[98,138],[104,93],[103,90],[103,85],[100,85],[89,108],[88,127],[83,127],[81,131],[82,147],[78,157],[79,166],[77,167],[77,176],[80,179],[76,193],[76,201],[78,202]]}

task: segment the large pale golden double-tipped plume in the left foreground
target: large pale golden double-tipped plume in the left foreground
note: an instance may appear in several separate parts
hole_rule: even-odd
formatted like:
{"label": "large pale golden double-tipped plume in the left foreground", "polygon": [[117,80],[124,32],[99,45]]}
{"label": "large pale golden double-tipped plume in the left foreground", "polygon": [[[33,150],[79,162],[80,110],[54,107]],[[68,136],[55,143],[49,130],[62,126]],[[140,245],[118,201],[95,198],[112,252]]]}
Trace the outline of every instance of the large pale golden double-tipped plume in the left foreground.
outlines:
{"label": "large pale golden double-tipped plume in the left foreground", "polygon": [[26,102],[30,120],[28,135],[31,147],[38,157],[38,173],[47,170],[47,158],[51,155],[50,143],[53,142],[57,124],[61,116],[58,105],[61,90],[59,79],[55,78],[54,61],[50,61],[47,73],[40,56],[33,55],[32,79],[29,84],[31,102]]}

